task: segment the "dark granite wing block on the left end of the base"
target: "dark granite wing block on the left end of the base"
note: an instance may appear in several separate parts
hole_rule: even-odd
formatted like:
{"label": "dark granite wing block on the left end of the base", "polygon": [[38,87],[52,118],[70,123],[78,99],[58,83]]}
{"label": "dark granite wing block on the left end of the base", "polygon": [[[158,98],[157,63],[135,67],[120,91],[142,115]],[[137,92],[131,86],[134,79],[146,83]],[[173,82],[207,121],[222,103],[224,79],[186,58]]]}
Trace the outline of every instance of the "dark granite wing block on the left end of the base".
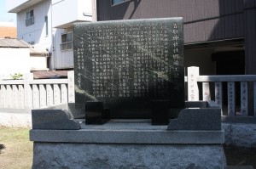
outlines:
{"label": "dark granite wing block on the left end of the base", "polygon": [[67,110],[32,110],[32,129],[79,130],[78,121]]}

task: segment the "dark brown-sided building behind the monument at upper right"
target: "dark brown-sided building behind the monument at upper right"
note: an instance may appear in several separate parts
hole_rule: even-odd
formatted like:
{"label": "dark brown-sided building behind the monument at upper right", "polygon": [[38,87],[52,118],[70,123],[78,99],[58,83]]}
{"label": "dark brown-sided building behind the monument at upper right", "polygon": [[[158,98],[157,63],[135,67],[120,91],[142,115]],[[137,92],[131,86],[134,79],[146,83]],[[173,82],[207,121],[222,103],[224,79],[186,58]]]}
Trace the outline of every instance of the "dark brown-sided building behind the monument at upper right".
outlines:
{"label": "dark brown-sided building behind the monument at upper right", "polygon": [[97,20],[183,17],[184,65],[256,74],[255,0],[97,0]]}

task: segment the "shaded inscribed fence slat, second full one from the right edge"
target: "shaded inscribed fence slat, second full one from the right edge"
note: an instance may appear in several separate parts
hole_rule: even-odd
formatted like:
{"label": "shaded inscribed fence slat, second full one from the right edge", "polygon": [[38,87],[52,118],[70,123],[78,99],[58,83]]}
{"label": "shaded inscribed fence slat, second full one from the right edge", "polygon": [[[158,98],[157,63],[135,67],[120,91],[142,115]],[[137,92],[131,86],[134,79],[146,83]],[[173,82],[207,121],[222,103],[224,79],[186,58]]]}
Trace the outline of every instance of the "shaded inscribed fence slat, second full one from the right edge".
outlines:
{"label": "shaded inscribed fence slat, second full one from the right edge", "polygon": [[235,82],[228,82],[228,115],[236,115],[236,92]]}

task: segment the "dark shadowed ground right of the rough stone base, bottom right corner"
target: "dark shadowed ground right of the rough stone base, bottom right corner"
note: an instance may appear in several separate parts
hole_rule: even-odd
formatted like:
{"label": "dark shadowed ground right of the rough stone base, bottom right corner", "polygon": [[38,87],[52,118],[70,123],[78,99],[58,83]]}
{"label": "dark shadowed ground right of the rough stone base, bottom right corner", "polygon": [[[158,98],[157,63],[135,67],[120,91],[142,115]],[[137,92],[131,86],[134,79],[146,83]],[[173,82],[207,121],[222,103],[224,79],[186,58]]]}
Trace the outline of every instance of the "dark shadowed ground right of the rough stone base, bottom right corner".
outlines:
{"label": "dark shadowed ground right of the rough stone base, bottom right corner", "polygon": [[253,166],[256,168],[256,148],[239,148],[224,145],[228,166]]}

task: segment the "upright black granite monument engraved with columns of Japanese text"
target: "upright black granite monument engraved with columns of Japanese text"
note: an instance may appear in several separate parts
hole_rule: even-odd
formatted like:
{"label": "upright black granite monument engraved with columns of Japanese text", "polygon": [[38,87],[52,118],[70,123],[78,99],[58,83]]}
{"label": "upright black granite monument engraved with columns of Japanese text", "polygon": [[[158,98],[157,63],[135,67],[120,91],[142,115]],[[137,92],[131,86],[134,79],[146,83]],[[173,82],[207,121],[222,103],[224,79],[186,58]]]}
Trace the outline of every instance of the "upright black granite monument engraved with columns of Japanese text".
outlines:
{"label": "upright black granite monument engraved with columns of Japanese text", "polygon": [[76,106],[86,104],[90,124],[168,124],[169,110],[184,107],[182,18],[78,23],[73,35]]}

